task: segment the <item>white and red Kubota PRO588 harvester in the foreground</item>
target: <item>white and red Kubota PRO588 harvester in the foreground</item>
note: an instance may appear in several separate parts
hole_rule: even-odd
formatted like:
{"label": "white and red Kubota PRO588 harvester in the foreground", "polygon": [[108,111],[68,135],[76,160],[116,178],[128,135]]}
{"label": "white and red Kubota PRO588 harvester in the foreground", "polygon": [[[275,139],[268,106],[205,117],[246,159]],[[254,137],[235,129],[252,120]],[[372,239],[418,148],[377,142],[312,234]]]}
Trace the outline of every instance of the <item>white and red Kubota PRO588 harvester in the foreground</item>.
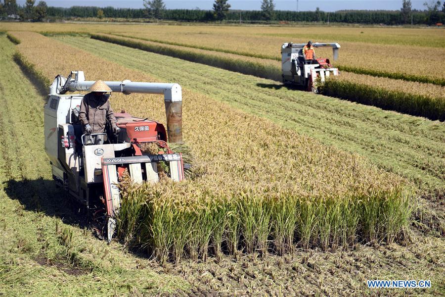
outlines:
{"label": "white and red Kubota PRO588 harvester in the foreground", "polygon": [[[100,211],[105,206],[110,241],[120,206],[119,177],[124,172],[134,182],[157,182],[158,163],[162,162],[160,168],[165,168],[171,179],[184,178],[182,155],[167,145],[167,138],[171,143],[182,142],[182,91],[178,84],[106,81],[113,92],[164,95],[167,131],[159,122],[123,111],[115,113],[119,134],[113,134],[107,124],[105,133],[100,133],[103,145],[84,145],[86,135],[78,118],[84,96],[65,94],[86,91],[92,84],[94,81],[85,80],[83,71],[72,71],[67,78],[55,77],[45,104],[45,151],[58,185],[89,209]],[[147,144],[156,144],[158,153],[141,149]]]}

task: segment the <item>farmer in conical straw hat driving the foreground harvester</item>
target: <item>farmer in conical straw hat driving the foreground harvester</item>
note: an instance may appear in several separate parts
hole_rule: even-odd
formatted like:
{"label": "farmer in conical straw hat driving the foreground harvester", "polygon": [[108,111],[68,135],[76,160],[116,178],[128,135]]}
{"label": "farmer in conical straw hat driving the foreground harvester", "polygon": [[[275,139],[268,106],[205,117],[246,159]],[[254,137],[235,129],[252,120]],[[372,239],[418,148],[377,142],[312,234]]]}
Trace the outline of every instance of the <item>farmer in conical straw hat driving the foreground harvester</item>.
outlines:
{"label": "farmer in conical straw hat driving the foreground harvester", "polygon": [[[112,92],[103,81],[96,81],[89,87],[88,93],[82,99],[79,120],[83,125],[84,133],[88,134],[85,145],[102,145],[104,143],[105,124],[108,121],[115,134],[120,132],[116,125],[113,109],[111,108],[109,95],[105,93]],[[99,135],[91,135],[99,134]]]}

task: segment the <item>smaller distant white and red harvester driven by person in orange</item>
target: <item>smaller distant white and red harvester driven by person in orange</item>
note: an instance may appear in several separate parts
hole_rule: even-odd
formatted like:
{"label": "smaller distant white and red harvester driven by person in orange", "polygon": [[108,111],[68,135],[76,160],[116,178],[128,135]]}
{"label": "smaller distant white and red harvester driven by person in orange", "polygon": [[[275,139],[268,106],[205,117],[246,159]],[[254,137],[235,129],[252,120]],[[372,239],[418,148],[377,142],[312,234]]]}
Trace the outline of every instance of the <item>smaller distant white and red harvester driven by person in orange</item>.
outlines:
{"label": "smaller distant white and red harvester driven by person in orange", "polygon": [[[318,58],[306,60],[303,48],[306,44],[284,43],[281,46],[281,71],[284,84],[302,86],[308,91],[318,93],[316,83],[324,82],[330,75],[338,75],[338,69],[334,68],[329,59]],[[331,47],[334,60],[338,58],[338,43],[314,43],[314,48]]]}

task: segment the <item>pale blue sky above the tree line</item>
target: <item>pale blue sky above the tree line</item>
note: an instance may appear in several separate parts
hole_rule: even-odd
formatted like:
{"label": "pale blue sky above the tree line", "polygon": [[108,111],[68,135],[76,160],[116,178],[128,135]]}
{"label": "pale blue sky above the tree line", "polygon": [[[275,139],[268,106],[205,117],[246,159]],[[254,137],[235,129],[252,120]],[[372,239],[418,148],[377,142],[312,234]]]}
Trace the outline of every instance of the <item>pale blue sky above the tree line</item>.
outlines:
{"label": "pale blue sky above the tree line", "polygon": [[[431,0],[430,0],[431,1]],[[36,3],[39,0],[36,0]],[[142,8],[142,0],[45,0],[49,6],[71,7],[78,6],[114,6]],[[167,8],[184,9],[212,9],[214,0],[164,0]],[[401,7],[402,0],[299,0],[298,10],[315,10],[320,7],[324,11],[335,11],[341,9],[370,9],[370,10],[398,10]],[[413,9],[423,10],[425,0],[411,0]],[[17,0],[17,3],[23,5],[25,0]],[[259,10],[261,0],[229,0],[231,9]],[[275,9],[278,10],[297,10],[297,0],[274,0]]]}

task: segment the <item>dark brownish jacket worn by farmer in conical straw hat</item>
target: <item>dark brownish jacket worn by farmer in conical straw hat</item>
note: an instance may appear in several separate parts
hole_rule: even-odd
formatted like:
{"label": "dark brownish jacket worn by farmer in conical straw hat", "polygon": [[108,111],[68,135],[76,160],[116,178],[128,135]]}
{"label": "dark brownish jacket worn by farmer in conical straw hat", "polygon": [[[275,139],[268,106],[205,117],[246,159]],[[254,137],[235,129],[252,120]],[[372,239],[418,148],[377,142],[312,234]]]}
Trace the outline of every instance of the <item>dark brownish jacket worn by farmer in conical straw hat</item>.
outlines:
{"label": "dark brownish jacket worn by farmer in conical straw hat", "polygon": [[109,95],[96,97],[92,93],[88,93],[82,99],[79,120],[84,127],[89,124],[92,133],[103,133],[106,121],[109,121],[111,125],[116,124],[116,118],[108,97]]}

